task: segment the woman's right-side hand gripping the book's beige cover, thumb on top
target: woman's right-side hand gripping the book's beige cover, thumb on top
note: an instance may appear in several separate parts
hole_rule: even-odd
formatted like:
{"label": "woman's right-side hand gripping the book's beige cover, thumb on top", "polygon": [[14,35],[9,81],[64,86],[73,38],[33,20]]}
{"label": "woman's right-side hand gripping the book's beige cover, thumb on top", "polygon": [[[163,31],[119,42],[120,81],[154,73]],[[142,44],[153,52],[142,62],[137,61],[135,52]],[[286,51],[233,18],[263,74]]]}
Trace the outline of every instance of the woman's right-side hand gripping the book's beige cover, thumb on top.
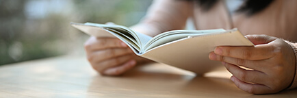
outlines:
{"label": "woman's right-side hand gripping the book's beige cover, thumb on top", "polygon": [[255,47],[216,47],[209,59],[221,61],[235,85],[248,93],[277,93],[290,86],[296,69],[292,47],[271,36],[246,37]]}

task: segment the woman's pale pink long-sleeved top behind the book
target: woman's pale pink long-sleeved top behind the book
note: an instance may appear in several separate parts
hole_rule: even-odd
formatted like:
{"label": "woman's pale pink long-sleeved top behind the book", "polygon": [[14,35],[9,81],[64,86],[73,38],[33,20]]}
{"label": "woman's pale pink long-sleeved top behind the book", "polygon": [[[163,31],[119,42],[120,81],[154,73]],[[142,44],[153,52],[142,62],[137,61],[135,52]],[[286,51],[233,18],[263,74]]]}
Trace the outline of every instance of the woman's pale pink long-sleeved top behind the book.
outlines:
{"label": "woman's pale pink long-sleeved top behind the book", "polygon": [[[261,12],[246,16],[246,13],[229,14],[224,1],[218,1],[213,8],[204,12],[193,1],[155,0],[148,10],[148,14],[133,29],[149,36],[155,36],[169,30],[183,29],[187,19],[192,18],[196,29],[232,29],[237,27],[244,35],[266,34],[296,42],[296,9],[296,0],[275,0]],[[297,45],[292,42],[288,43],[296,54]],[[297,75],[295,75],[290,88],[296,88],[296,86]]]}

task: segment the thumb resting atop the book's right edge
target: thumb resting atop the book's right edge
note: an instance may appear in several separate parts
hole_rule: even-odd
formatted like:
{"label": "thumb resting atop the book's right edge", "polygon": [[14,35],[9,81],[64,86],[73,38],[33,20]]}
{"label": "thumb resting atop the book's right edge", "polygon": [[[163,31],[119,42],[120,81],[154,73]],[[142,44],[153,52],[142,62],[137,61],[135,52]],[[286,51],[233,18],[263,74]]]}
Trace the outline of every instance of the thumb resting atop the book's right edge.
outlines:
{"label": "thumb resting atop the book's right edge", "polygon": [[267,35],[246,35],[245,37],[248,38],[250,42],[253,42],[254,45],[267,44],[277,39],[276,37]]}

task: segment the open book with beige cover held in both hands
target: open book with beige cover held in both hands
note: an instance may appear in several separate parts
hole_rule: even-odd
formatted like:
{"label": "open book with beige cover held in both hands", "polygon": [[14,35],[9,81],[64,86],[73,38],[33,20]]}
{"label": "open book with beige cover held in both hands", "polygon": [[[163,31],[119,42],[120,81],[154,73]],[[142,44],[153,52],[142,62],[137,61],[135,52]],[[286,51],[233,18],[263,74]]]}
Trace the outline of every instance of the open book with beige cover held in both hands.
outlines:
{"label": "open book with beige cover held in both hands", "polygon": [[125,42],[138,56],[170,66],[205,73],[220,62],[209,60],[217,46],[253,46],[237,29],[173,30],[146,36],[122,25],[71,23],[73,27],[96,37],[115,37]]}

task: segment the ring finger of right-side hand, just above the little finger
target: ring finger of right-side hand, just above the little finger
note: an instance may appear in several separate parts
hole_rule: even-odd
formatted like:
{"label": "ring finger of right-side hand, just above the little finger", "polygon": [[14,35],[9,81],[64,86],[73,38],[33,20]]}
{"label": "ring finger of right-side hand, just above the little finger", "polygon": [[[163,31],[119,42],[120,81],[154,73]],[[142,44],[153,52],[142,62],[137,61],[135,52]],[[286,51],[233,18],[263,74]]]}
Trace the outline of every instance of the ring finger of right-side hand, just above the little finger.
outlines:
{"label": "ring finger of right-side hand, just above the little finger", "polygon": [[268,76],[265,73],[254,70],[242,69],[234,64],[224,63],[226,69],[243,82],[266,84]]}

